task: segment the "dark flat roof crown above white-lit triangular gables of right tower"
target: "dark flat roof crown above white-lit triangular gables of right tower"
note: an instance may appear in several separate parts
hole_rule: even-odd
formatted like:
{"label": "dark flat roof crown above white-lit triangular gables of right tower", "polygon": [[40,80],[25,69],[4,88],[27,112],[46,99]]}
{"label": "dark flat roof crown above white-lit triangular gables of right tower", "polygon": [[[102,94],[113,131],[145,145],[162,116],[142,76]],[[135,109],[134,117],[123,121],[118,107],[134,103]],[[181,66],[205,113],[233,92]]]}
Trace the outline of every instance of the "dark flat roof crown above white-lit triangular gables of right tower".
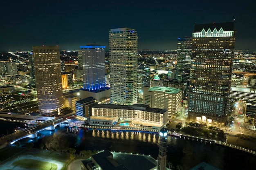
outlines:
{"label": "dark flat roof crown above white-lit triangular gables of right tower", "polygon": [[195,24],[194,33],[201,32],[203,29],[207,31],[208,29],[216,28],[217,30],[220,30],[220,28],[223,29],[223,31],[235,31],[235,22],[221,22],[221,23],[210,23],[210,24]]}

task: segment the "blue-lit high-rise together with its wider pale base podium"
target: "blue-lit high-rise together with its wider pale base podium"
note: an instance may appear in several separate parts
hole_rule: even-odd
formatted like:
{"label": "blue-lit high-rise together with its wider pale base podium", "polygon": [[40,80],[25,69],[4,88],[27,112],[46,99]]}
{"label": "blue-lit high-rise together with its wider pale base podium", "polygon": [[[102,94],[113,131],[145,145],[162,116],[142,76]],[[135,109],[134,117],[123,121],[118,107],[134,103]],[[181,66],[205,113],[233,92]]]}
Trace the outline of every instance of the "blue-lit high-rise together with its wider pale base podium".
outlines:
{"label": "blue-lit high-rise together with its wider pale base podium", "polygon": [[80,46],[83,63],[83,89],[80,98],[94,97],[99,101],[110,97],[105,81],[105,47],[97,44]]}

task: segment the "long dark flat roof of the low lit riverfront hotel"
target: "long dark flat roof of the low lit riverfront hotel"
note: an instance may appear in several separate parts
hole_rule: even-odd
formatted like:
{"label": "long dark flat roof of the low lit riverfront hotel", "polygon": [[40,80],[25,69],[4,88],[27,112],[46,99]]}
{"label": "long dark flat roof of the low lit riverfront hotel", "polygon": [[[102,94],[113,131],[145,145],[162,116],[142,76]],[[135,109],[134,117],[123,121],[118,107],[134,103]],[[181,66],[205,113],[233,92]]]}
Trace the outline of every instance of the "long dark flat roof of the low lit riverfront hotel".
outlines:
{"label": "long dark flat roof of the low lit riverfront hotel", "polygon": [[98,104],[93,106],[93,108],[113,108],[113,109],[126,109],[126,110],[145,110],[153,113],[165,113],[166,110],[160,108],[150,108],[146,104],[133,104],[128,105],[115,105],[115,104]]}

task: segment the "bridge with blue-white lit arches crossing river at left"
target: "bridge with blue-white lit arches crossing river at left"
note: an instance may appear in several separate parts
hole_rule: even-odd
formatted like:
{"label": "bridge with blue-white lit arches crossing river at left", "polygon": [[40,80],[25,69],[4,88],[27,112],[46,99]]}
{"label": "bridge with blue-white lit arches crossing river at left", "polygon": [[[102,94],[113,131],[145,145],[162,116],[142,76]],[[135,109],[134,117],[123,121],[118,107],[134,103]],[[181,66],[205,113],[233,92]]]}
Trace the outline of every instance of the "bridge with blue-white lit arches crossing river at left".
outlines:
{"label": "bridge with blue-white lit arches crossing river at left", "polygon": [[68,122],[69,121],[68,117],[73,116],[73,115],[74,115],[74,113],[70,113],[70,114],[67,114],[64,116],[59,116],[59,117],[56,117],[55,119],[45,121],[41,124],[32,126],[25,130],[22,130],[19,132],[14,132],[7,136],[3,136],[2,138],[0,138],[0,149],[7,146],[7,143],[9,140],[11,140],[11,144],[14,144],[16,141],[19,141],[20,139],[23,139],[26,137],[36,138],[37,137],[36,133],[40,132],[42,130],[55,130],[56,126],[58,126],[59,124],[62,124],[64,122]]}

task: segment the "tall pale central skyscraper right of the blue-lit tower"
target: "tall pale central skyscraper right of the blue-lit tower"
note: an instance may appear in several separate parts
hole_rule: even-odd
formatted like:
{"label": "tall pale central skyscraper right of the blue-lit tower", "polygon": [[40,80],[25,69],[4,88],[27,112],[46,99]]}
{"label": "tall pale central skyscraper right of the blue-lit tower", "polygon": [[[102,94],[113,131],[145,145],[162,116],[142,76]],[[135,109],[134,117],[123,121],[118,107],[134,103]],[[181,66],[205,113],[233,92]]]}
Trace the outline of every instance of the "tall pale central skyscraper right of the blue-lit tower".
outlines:
{"label": "tall pale central skyscraper right of the blue-lit tower", "polygon": [[138,35],[135,29],[109,31],[110,102],[137,103]]}

